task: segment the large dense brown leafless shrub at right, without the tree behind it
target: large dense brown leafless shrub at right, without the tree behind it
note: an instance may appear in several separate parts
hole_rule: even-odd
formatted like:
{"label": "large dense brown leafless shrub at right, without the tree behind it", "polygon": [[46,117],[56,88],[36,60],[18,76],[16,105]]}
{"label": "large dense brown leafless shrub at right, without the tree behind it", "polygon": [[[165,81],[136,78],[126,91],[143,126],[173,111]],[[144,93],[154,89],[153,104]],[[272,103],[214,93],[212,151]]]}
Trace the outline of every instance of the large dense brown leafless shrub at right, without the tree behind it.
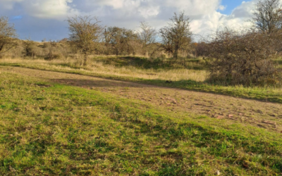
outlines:
{"label": "large dense brown leafless shrub at right, without the tree behind it", "polygon": [[209,80],[221,84],[281,84],[281,70],[274,64],[281,33],[255,30],[216,32],[205,44]]}

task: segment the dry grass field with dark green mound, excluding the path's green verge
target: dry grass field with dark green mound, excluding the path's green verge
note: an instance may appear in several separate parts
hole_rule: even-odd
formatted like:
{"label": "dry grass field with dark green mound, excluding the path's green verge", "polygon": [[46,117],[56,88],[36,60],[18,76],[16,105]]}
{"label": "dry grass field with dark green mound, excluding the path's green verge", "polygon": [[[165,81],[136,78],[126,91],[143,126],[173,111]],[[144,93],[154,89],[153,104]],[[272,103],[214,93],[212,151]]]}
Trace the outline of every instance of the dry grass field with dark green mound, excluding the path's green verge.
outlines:
{"label": "dry grass field with dark green mound, excluding the path's green verge", "polygon": [[80,71],[82,74],[97,75],[104,77],[123,77],[124,79],[133,80],[195,80],[202,82],[205,80],[207,73],[203,66],[197,60],[192,60],[183,65],[182,62],[171,64],[166,61],[150,61],[147,58],[139,57],[94,57],[88,61],[87,66],[80,65],[76,59],[59,59],[45,61],[44,59],[0,59],[2,65],[13,64],[30,68],[48,69],[57,71]]}

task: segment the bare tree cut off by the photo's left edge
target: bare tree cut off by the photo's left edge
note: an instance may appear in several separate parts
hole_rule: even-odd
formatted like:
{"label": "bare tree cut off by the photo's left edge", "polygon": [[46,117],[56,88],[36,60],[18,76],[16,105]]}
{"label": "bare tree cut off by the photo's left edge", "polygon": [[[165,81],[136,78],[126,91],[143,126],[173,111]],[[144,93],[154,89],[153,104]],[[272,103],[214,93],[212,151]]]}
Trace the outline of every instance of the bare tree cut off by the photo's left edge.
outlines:
{"label": "bare tree cut off by the photo's left edge", "polygon": [[16,30],[13,25],[8,23],[8,18],[0,17],[0,54],[16,46]]}

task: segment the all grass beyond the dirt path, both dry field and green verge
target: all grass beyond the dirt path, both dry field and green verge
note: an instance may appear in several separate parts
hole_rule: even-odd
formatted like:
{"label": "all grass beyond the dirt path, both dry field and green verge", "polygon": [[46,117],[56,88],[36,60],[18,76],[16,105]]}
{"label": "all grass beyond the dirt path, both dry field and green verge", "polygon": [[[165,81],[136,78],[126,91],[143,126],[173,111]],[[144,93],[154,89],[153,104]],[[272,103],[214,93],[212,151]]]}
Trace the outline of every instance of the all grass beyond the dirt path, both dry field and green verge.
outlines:
{"label": "all grass beyond the dirt path, both dry field and green verge", "polygon": [[[276,60],[280,63],[281,60]],[[282,89],[276,87],[223,86],[206,82],[207,71],[202,60],[148,59],[123,56],[97,56],[80,66],[79,60],[1,59],[0,65],[20,66],[63,73],[92,75],[113,80],[140,82],[165,87],[176,87],[200,92],[212,92],[247,99],[282,103]],[[167,84],[166,80],[172,81]]]}

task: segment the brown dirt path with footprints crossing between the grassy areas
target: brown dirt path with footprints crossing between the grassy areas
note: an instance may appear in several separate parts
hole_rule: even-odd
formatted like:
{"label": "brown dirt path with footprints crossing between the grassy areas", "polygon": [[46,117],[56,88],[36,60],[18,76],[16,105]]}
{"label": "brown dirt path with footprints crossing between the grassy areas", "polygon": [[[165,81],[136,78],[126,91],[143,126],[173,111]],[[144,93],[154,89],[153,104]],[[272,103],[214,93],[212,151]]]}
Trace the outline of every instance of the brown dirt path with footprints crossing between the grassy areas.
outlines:
{"label": "brown dirt path with footprints crossing between the grassy areas", "polygon": [[271,131],[282,130],[282,104],[278,103],[28,68],[0,67],[0,71],[109,92],[128,99],[140,99],[166,107],[170,111],[188,111],[197,115],[207,115],[210,118],[240,121]]}

